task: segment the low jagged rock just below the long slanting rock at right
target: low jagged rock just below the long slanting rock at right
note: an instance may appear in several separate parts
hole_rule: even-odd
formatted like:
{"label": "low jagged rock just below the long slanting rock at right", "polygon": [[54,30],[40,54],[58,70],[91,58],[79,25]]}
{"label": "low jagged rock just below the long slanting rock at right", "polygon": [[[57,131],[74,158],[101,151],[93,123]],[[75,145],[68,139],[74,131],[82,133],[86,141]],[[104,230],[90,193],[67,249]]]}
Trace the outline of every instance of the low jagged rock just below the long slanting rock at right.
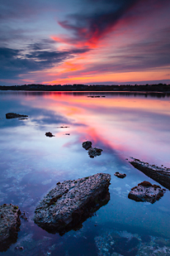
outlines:
{"label": "low jagged rock just below the long slanting rock at right", "polygon": [[159,200],[165,193],[158,185],[152,185],[149,181],[143,181],[131,189],[128,198],[135,201],[147,201],[151,204]]}

